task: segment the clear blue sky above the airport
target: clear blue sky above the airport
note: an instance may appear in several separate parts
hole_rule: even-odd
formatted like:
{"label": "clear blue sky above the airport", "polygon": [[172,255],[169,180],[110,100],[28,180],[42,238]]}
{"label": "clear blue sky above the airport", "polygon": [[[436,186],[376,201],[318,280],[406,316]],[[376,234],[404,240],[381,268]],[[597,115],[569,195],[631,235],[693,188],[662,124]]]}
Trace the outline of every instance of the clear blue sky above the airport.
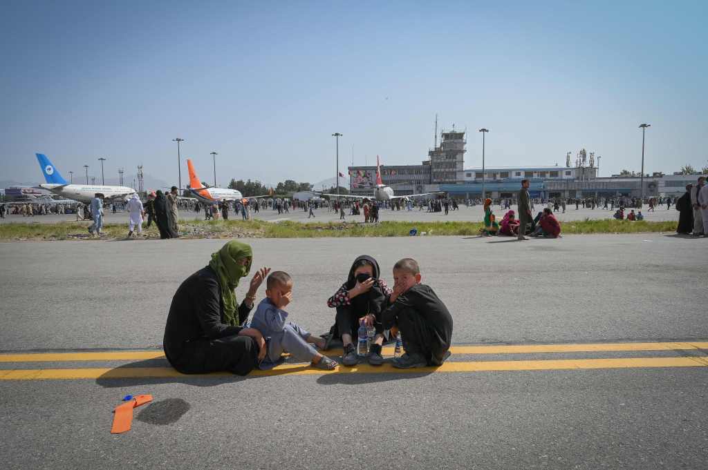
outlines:
{"label": "clear blue sky above the airport", "polygon": [[[603,175],[708,164],[707,1],[45,2],[0,18],[0,180],[119,166],[177,180],[176,144],[212,180],[316,182],[420,163],[433,122],[472,131],[465,166]],[[574,156],[573,156],[574,159]],[[182,168],[187,181],[186,165]],[[68,175],[67,175],[68,177]]]}

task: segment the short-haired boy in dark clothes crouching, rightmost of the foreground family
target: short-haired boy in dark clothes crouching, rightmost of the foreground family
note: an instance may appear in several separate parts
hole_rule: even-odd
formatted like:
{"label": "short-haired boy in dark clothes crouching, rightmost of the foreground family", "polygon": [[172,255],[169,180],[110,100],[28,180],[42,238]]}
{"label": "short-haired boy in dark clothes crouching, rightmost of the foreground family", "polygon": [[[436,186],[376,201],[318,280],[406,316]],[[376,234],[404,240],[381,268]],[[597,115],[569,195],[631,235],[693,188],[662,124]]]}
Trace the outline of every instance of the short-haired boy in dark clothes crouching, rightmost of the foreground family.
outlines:
{"label": "short-haired boy in dark clothes crouching, rightmost of the foreground family", "polygon": [[441,365],[450,357],[452,315],[430,286],[421,284],[421,269],[412,258],[394,264],[394,289],[382,312],[384,328],[398,327],[406,351],[394,368]]}

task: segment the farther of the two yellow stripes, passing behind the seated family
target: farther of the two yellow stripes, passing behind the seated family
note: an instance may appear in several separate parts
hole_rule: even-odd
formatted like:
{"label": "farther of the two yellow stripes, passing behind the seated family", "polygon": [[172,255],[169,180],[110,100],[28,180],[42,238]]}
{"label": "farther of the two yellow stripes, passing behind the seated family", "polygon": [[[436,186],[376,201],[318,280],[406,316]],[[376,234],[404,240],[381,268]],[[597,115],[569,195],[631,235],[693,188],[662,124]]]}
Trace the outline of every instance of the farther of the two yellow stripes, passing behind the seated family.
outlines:
{"label": "farther of the two yellow stripes, passing behind the seated family", "polygon": [[[696,343],[590,343],[590,344],[513,344],[499,346],[452,346],[452,354],[521,354],[521,353],[583,353],[596,351],[684,351],[708,349],[708,342]],[[341,349],[327,351],[341,355]],[[392,356],[393,346],[383,348]],[[162,351],[107,351],[95,353],[28,353],[0,354],[0,363],[65,362],[85,360],[146,360],[164,358]]]}

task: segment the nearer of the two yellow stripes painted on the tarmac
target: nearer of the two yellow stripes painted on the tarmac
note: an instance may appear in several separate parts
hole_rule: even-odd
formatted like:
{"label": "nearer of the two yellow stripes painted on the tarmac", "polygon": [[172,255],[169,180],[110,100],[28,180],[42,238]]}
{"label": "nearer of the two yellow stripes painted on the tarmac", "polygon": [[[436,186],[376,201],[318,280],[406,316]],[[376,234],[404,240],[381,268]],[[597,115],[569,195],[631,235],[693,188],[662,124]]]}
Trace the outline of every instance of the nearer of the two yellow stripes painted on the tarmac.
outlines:
{"label": "nearer of the two yellow stripes painted on the tarmac", "polygon": [[[396,369],[390,364],[376,367],[360,364],[348,368],[338,366],[325,371],[307,364],[280,365],[273,370],[255,370],[251,375],[324,375],[324,374],[381,374],[381,373],[430,373],[430,372],[493,372],[503,370],[587,370],[629,368],[695,368],[708,367],[708,358],[612,358],[612,359],[561,359],[561,360],[490,360],[477,362],[446,362],[438,368]],[[227,372],[204,375],[183,375],[172,368],[86,368],[86,369],[23,369],[0,370],[0,380],[69,380],[69,379],[128,379],[162,377],[230,376]]]}

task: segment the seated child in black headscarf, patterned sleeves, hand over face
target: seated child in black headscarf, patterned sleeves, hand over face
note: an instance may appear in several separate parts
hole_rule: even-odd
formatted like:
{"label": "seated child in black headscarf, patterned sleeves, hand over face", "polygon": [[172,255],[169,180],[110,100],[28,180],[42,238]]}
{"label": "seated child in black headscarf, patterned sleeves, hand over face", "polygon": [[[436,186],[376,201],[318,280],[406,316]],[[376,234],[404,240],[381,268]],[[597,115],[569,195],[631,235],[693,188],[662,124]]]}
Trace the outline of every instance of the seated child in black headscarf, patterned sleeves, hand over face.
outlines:
{"label": "seated child in black headscarf, patterned sleeves, hand over face", "polygon": [[359,362],[353,337],[357,334],[361,319],[364,319],[367,327],[373,326],[376,330],[374,343],[369,351],[369,363],[381,365],[384,362],[381,356],[381,346],[384,343],[381,311],[392,291],[386,281],[379,278],[380,273],[379,264],[374,258],[365,254],[357,257],[349,269],[346,283],[327,300],[328,307],[337,309],[336,323],[329,330],[329,341],[341,338],[344,346],[344,365],[355,365]]}

